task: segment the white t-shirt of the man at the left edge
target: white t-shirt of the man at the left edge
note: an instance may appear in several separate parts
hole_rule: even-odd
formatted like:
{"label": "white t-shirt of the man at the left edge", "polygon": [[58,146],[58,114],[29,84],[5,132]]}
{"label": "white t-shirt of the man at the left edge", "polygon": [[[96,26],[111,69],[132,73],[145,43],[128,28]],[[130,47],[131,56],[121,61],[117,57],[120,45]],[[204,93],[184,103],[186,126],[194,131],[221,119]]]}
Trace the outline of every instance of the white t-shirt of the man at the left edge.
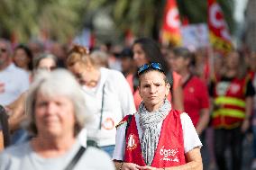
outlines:
{"label": "white t-shirt of the man at the left edge", "polygon": [[0,104],[13,103],[29,88],[29,74],[23,69],[15,67],[14,64],[10,64],[5,70],[0,71],[0,84],[4,84],[4,92],[0,92]]}

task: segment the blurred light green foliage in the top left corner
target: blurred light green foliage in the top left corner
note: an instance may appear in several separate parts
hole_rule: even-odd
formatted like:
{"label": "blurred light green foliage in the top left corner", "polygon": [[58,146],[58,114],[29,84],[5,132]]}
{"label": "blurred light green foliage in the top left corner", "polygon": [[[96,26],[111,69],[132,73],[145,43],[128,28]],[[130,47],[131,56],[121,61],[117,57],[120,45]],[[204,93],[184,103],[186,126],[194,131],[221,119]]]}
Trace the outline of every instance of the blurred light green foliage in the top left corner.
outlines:
{"label": "blurred light green foliage in the top left corner", "polygon": [[66,41],[83,26],[85,0],[1,0],[0,34],[26,41],[41,31]]}

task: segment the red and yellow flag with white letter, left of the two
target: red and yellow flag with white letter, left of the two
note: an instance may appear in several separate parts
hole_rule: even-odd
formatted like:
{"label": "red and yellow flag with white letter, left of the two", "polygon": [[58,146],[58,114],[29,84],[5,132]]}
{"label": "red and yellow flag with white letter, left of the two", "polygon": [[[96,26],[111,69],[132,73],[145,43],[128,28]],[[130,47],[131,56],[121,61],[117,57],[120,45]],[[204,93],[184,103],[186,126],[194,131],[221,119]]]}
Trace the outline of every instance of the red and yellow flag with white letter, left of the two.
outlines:
{"label": "red and yellow flag with white letter, left of the two", "polygon": [[161,40],[164,44],[181,44],[180,21],[176,0],[167,0],[165,6]]}

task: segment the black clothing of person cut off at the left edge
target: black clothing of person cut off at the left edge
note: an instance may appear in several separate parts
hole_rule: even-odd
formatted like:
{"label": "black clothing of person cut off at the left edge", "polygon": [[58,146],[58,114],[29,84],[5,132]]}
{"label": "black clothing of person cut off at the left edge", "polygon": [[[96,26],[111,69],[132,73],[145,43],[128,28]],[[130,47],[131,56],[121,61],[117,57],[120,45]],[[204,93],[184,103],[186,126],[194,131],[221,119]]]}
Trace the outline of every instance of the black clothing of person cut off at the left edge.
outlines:
{"label": "black clothing of person cut off at the left edge", "polygon": [[0,105],[0,125],[2,126],[5,148],[10,144],[10,133],[8,128],[8,116],[5,108]]}

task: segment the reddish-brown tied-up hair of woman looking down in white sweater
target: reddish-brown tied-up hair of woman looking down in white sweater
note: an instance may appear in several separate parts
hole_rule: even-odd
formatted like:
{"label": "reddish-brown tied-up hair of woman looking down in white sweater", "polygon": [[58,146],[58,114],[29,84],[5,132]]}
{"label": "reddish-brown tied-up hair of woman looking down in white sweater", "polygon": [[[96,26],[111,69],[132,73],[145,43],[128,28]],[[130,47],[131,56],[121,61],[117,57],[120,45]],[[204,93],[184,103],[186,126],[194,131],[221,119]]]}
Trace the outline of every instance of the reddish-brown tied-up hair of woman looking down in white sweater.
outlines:
{"label": "reddish-brown tied-up hair of woman looking down in white sweater", "polygon": [[89,56],[89,50],[80,45],[74,45],[68,53],[67,66],[72,67],[76,63],[96,67],[95,61]]}

